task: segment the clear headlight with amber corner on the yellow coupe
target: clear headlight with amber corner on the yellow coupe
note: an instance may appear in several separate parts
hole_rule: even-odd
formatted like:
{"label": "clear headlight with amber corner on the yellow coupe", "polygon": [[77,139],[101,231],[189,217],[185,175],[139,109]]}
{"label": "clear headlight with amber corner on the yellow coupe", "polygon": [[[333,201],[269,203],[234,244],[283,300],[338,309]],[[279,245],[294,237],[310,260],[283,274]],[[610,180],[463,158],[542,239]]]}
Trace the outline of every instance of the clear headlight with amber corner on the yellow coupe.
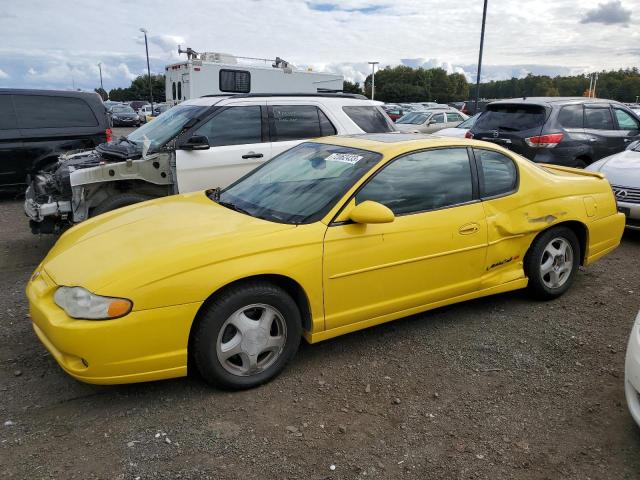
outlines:
{"label": "clear headlight with amber corner on the yellow coupe", "polygon": [[85,320],[122,317],[133,307],[126,298],[101,297],[82,287],[60,287],[53,300],[70,317]]}

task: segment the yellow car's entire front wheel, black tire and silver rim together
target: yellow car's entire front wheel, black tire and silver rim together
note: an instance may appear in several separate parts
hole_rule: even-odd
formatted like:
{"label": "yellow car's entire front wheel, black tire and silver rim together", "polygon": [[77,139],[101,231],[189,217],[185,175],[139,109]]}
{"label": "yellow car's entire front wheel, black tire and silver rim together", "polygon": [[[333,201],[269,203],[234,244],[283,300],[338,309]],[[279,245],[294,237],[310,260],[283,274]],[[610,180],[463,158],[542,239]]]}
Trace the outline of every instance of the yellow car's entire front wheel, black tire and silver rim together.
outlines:
{"label": "yellow car's entire front wheel, black tire and silver rim together", "polygon": [[209,383],[245,389],[278,375],[300,344],[300,312],[280,287],[232,287],[205,307],[194,326],[193,360]]}

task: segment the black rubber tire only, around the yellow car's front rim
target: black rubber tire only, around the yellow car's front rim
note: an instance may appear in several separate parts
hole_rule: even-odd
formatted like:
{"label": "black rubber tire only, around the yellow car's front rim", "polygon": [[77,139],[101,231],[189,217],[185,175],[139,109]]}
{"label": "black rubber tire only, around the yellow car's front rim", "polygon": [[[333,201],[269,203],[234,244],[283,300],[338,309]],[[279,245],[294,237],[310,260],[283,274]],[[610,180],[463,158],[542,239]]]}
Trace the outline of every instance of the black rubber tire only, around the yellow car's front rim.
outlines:
{"label": "black rubber tire only, around the yellow car's front rim", "polygon": [[[241,376],[223,366],[218,358],[217,342],[225,335],[221,329],[227,320],[243,307],[254,304],[272,307],[281,314],[286,324],[286,340],[273,363],[258,373]],[[208,383],[229,390],[253,388],[275,378],[295,356],[302,334],[300,311],[291,296],[282,288],[262,281],[223,291],[205,306],[193,328],[190,353],[198,372]]]}

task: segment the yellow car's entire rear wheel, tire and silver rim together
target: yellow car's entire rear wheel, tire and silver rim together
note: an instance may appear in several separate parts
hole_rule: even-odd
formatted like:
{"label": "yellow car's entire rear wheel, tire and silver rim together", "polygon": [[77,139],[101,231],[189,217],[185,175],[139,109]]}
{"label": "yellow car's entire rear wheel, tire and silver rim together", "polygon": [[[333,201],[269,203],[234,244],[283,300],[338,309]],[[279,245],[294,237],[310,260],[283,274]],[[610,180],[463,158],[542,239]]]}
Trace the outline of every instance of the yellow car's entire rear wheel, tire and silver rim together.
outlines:
{"label": "yellow car's entire rear wheel, tire and silver rim together", "polygon": [[525,257],[529,291],[541,299],[565,293],[573,283],[580,259],[580,244],[575,233],[555,227],[540,235]]}

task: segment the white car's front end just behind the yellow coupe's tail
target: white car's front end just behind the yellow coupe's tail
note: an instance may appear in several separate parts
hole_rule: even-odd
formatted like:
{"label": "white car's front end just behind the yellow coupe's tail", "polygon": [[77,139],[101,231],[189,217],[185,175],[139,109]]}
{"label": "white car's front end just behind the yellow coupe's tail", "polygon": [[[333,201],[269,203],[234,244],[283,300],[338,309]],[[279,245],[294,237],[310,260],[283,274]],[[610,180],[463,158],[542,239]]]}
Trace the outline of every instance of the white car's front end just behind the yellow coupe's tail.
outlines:
{"label": "white car's front end just behind the yellow coupe's tail", "polygon": [[593,162],[586,169],[607,177],[618,210],[627,217],[626,227],[640,230],[640,140],[630,143],[620,153]]}

